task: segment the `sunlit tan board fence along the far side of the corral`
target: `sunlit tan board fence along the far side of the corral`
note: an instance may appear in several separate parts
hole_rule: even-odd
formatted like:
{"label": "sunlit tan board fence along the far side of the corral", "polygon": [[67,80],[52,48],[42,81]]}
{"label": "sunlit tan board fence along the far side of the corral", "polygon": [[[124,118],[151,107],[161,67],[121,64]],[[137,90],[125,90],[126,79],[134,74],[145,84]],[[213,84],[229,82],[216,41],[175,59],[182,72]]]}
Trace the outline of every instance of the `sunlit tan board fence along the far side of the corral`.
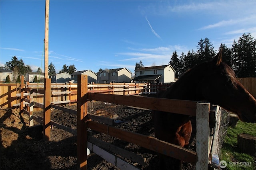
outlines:
{"label": "sunlit tan board fence along the far side of the corral", "polygon": [[[24,83],[23,83],[24,84]],[[0,106],[16,107],[20,105],[20,85],[0,84]],[[22,86],[26,89],[23,94],[30,95],[32,102],[43,104],[44,102],[44,83],[26,82]],[[139,95],[144,92],[146,84],[140,83],[110,83],[110,84],[88,84],[88,91],[104,94]],[[30,91],[32,90],[32,91]],[[77,84],[52,83],[51,102],[61,105],[72,105],[77,103]],[[33,107],[34,108],[34,107]]]}

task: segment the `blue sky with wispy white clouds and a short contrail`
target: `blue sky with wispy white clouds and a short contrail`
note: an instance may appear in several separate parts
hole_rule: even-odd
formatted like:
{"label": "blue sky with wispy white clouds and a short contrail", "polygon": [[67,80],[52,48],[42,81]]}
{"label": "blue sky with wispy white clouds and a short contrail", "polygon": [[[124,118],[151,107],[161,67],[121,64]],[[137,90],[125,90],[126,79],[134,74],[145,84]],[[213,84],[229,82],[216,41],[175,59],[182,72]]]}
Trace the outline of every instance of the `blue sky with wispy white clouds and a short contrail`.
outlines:
{"label": "blue sky with wispy white clouds and a short contrail", "polygon": [[[45,1],[0,1],[0,64],[16,55],[44,70]],[[197,50],[210,39],[217,50],[243,33],[256,38],[256,1],[50,0],[49,63],[56,72],[168,64],[172,53]]]}

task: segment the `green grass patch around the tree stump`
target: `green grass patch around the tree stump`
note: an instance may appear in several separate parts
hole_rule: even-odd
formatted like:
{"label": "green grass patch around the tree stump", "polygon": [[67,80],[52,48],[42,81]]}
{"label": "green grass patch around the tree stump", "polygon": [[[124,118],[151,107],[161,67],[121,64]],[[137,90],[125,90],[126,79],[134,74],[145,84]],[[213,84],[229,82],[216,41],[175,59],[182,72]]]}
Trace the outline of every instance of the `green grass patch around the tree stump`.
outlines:
{"label": "green grass patch around the tree stump", "polygon": [[[227,170],[256,170],[256,157],[241,153],[237,149],[237,135],[240,133],[247,133],[256,136],[256,123],[246,123],[238,121],[236,127],[228,127],[221,153],[220,161],[225,160],[228,166]],[[252,162],[251,166],[236,167],[230,166],[229,162]]]}

